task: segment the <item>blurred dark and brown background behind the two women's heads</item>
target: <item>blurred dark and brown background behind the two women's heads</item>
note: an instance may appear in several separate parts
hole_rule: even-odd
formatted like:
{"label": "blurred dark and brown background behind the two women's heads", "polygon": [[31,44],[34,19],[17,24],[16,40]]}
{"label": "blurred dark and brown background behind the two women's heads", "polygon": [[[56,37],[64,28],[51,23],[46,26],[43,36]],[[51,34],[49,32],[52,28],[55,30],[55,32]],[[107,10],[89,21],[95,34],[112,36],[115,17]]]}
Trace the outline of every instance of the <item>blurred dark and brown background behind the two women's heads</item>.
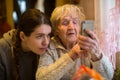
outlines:
{"label": "blurred dark and brown background behind the two women's heads", "polygon": [[[0,4],[4,3],[4,7],[0,5],[6,12],[6,21],[15,28],[17,20],[21,13],[29,8],[38,8],[45,12],[49,17],[56,6],[66,3],[75,3],[84,8],[86,19],[94,20],[94,0],[0,0]],[[2,11],[3,12],[3,11]]]}

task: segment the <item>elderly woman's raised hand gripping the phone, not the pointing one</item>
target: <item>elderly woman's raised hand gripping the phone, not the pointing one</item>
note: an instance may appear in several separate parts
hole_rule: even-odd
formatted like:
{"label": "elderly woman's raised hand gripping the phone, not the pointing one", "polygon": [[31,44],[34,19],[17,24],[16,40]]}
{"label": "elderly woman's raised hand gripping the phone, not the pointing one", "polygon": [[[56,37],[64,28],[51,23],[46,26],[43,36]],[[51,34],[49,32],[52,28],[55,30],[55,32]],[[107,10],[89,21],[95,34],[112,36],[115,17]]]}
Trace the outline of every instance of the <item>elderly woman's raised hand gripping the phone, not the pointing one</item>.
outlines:
{"label": "elderly woman's raised hand gripping the phone, not the pointing one", "polygon": [[81,49],[86,50],[91,54],[91,59],[97,61],[102,58],[102,52],[100,49],[99,40],[96,34],[92,31],[85,30],[89,36],[80,35],[78,38]]}

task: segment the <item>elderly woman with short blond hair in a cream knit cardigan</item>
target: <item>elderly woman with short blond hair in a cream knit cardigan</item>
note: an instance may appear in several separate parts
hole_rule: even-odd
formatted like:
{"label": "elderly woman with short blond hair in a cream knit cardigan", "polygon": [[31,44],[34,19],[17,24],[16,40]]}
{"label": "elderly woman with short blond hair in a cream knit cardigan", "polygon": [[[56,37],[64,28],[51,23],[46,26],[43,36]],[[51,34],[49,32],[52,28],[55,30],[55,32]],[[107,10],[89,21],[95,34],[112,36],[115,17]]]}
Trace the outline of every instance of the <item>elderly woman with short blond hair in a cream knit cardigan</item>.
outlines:
{"label": "elderly woman with short blond hair in a cream knit cardigan", "polygon": [[105,79],[113,77],[113,67],[102,53],[94,32],[80,35],[83,13],[71,4],[55,8],[51,16],[54,36],[47,53],[40,56],[37,80],[72,80],[80,65],[93,68]]}

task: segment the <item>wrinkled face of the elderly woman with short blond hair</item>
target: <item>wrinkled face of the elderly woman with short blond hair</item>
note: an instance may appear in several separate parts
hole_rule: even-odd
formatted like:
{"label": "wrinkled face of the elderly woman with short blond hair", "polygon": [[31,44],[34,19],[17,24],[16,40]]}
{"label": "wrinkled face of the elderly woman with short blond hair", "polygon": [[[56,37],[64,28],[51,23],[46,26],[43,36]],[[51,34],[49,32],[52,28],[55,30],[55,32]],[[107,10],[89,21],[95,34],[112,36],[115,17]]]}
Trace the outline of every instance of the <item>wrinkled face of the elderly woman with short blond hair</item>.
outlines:
{"label": "wrinkled face of the elderly woman with short blond hair", "polygon": [[71,13],[60,19],[57,33],[64,45],[77,41],[80,27],[80,20],[76,13]]}

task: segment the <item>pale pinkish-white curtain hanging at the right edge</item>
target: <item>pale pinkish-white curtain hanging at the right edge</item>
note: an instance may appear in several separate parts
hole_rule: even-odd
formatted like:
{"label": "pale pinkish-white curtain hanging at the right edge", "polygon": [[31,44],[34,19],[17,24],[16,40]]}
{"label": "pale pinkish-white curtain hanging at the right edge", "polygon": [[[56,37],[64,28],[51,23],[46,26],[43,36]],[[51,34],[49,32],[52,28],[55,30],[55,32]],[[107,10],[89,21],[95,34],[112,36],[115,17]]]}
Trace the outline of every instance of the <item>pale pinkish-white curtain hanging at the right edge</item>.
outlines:
{"label": "pale pinkish-white curtain hanging at the right edge", "polygon": [[120,0],[94,0],[95,31],[101,48],[116,66],[116,52],[120,51]]}

